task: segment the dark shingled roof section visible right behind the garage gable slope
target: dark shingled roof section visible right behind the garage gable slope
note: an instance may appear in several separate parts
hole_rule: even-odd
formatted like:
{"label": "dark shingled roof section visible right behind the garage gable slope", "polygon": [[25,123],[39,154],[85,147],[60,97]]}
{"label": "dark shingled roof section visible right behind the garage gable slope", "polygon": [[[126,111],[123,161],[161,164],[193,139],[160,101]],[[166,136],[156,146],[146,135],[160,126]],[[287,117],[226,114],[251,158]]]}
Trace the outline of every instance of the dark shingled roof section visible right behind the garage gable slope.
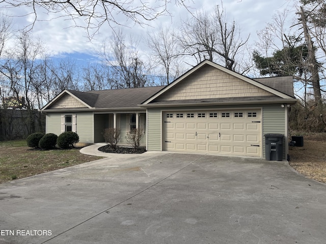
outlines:
{"label": "dark shingled roof section visible right behind the garage gable slope", "polygon": [[254,78],[254,80],[294,98],[293,76]]}

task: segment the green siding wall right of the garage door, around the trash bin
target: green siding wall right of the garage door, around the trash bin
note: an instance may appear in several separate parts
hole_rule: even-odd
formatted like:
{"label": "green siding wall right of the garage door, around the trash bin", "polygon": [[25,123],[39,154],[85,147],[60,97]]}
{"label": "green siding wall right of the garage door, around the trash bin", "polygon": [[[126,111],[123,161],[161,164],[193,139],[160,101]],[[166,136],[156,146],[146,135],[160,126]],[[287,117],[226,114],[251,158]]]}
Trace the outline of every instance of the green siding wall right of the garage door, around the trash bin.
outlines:
{"label": "green siding wall right of the garage door, around the trash bin", "polygon": [[[263,157],[265,157],[265,134],[285,135],[285,111],[280,104],[263,107]],[[283,139],[283,158],[285,159],[285,137]]]}

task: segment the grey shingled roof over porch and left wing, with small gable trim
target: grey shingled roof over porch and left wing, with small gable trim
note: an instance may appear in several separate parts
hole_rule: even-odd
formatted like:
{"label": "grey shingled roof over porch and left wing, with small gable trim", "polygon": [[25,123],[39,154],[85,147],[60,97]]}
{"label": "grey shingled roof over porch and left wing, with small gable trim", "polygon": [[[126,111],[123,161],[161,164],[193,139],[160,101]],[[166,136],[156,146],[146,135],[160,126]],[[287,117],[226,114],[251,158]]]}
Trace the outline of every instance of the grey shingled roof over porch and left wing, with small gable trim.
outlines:
{"label": "grey shingled roof over porch and left wing, with small gable trim", "polygon": [[139,108],[137,105],[153,96],[164,86],[151,86],[141,88],[126,88],[112,90],[94,90],[78,92],[76,90],[63,90],[55,99],[45,105],[41,110],[50,109],[51,104],[59,101],[65,94],[69,94],[88,107],[88,109],[117,109]]}

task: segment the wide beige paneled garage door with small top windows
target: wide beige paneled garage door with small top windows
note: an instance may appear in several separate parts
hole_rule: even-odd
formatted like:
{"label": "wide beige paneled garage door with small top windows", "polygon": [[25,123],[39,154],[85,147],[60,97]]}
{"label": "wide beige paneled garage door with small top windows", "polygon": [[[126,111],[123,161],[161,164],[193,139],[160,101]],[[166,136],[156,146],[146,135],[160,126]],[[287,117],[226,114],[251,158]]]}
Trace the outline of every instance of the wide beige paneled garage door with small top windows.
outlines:
{"label": "wide beige paneled garage door with small top windows", "polygon": [[164,150],[261,156],[261,112],[167,111],[162,114]]}

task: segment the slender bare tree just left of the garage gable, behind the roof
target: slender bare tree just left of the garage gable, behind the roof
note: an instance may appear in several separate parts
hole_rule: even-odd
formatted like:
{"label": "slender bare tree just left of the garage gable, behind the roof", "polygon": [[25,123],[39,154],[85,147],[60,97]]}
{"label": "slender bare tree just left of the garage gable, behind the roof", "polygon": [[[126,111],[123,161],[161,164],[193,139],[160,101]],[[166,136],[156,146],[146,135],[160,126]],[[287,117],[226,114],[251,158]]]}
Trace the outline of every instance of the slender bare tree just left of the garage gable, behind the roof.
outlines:
{"label": "slender bare tree just left of the garage gable, behind the roof", "polygon": [[147,46],[152,50],[152,57],[160,76],[161,85],[170,84],[182,74],[182,55],[177,45],[174,29],[160,27],[158,33],[148,33]]}

